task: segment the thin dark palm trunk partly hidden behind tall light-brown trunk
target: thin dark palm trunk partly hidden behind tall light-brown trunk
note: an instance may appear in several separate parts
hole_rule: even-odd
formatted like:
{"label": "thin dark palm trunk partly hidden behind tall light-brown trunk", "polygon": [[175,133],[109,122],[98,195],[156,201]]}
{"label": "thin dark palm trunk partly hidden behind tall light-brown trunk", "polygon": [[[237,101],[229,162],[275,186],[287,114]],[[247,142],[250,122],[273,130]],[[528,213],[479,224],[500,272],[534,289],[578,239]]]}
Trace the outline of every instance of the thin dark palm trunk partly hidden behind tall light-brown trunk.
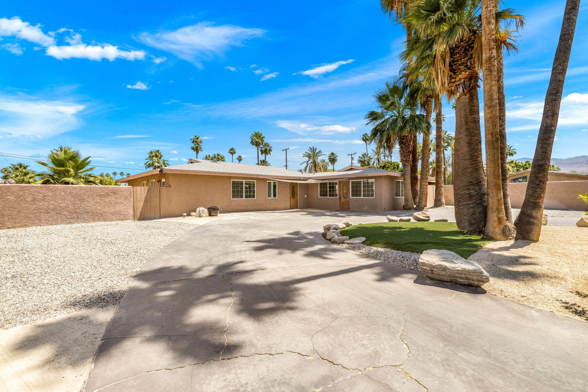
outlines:
{"label": "thin dark palm trunk partly hidden behind tall light-brown trunk", "polygon": [[513,223],[513,212],[510,208],[509,167],[506,165],[506,99],[505,99],[505,64],[503,62],[502,45],[496,45],[496,68],[498,71],[498,118],[500,132],[500,174],[502,175],[502,200],[505,203],[506,221]]}

